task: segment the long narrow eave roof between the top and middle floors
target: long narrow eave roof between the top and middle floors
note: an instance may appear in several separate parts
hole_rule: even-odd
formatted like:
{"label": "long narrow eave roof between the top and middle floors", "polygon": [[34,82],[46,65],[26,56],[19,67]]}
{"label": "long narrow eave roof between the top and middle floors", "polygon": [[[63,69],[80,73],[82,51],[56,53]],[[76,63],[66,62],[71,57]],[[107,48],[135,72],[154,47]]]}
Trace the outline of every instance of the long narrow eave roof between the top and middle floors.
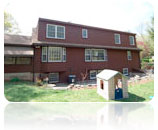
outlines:
{"label": "long narrow eave roof between the top and middle floors", "polygon": [[33,45],[39,46],[63,46],[63,47],[78,47],[78,48],[105,48],[105,49],[117,49],[117,50],[135,50],[141,51],[139,48],[135,47],[116,47],[116,46],[103,46],[103,45],[89,45],[89,44],[75,44],[75,43],[60,43],[60,42],[45,42],[45,41],[37,41],[34,42]]}

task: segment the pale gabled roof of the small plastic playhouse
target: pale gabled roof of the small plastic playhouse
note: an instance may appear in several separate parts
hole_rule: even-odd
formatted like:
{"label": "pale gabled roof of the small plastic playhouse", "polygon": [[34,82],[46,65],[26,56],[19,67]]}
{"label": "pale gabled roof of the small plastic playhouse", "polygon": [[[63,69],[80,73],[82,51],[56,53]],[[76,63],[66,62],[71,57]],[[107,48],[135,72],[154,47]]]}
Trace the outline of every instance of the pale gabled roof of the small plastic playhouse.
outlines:
{"label": "pale gabled roof of the small plastic playhouse", "polygon": [[[110,70],[110,69],[104,69],[103,71],[101,71],[99,74],[97,74],[97,78],[101,78],[103,80],[109,80],[112,77],[114,77],[116,74],[121,74],[122,76],[124,76],[122,73],[120,73],[119,71],[115,71],[115,70]],[[125,77],[125,76],[124,76]]]}

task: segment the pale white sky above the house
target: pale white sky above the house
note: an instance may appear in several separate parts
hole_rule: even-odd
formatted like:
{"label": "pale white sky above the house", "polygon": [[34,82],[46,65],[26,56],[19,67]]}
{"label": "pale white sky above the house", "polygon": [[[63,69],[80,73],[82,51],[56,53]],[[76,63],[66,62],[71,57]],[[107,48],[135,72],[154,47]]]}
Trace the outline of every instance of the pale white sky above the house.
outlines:
{"label": "pale white sky above the house", "polygon": [[22,35],[31,35],[39,17],[139,33],[154,15],[148,1],[5,0],[4,10],[14,17]]}

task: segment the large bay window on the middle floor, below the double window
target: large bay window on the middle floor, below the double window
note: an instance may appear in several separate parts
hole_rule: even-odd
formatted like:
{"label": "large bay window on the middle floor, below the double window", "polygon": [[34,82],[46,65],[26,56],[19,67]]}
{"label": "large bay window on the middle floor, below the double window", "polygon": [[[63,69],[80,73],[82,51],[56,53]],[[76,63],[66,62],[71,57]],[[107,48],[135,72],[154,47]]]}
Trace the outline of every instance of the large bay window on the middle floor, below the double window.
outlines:
{"label": "large bay window on the middle floor, below the double window", "polygon": [[42,47],[42,62],[47,62],[47,61],[48,62],[66,62],[66,48]]}

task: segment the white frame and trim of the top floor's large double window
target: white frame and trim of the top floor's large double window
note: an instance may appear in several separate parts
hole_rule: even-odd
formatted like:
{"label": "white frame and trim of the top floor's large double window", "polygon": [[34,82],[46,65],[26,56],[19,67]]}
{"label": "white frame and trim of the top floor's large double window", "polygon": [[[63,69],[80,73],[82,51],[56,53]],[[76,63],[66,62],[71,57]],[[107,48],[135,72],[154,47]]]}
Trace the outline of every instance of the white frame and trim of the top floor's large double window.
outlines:
{"label": "white frame and trim of the top floor's large double window", "polygon": [[[47,26],[47,27],[46,27],[46,38],[65,39],[65,26],[54,25],[54,24],[47,24],[46,26]],[[49,37],[49,36],[48,36],[48,26],[55,26],[55,37]],[[64,37],[63,37],[63,38],[57,37],[57,27],[63,27],[63,28],[64,28]]]}

